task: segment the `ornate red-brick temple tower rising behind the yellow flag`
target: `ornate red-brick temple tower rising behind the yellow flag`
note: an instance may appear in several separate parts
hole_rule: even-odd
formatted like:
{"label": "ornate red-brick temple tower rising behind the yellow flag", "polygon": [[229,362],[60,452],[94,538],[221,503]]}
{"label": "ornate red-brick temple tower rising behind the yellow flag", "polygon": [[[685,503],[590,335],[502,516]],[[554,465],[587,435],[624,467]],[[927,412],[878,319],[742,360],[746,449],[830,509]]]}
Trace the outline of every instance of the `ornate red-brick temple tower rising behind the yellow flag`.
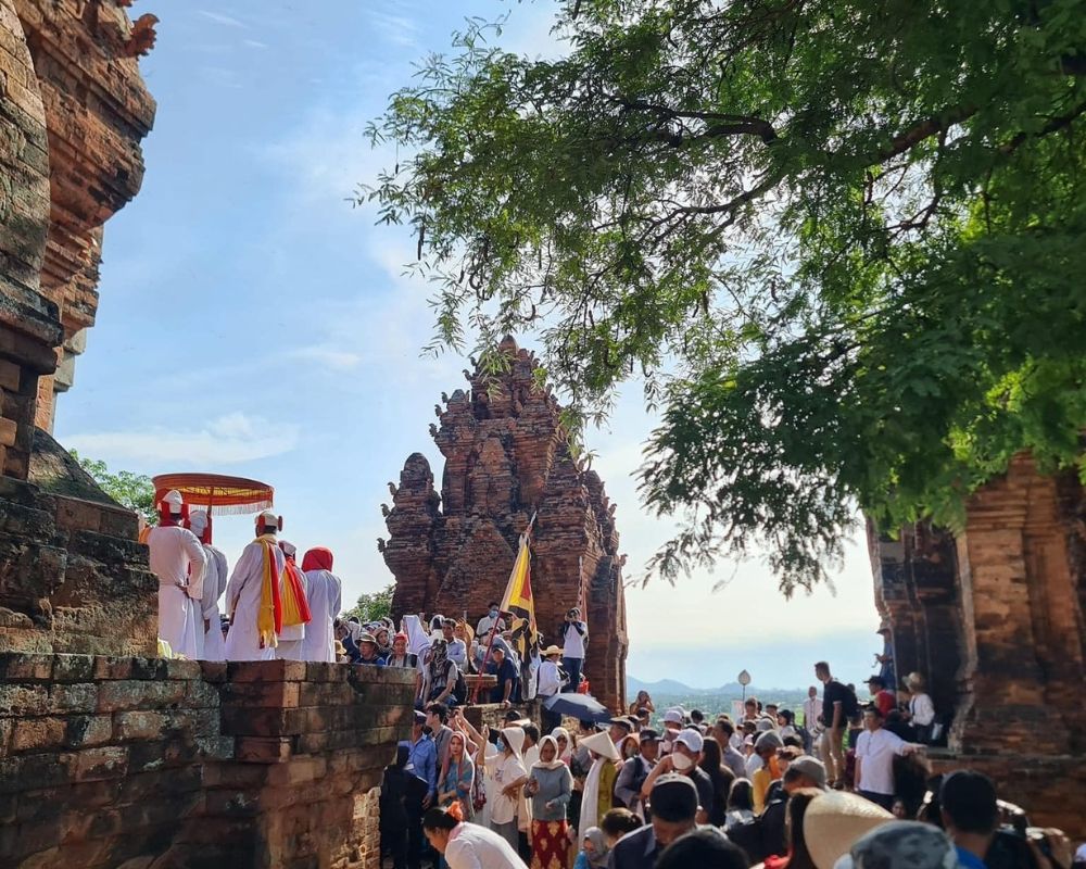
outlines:
{"label": "ornate red-brick temple tower rising behind the yellow flag", "polygon": [[[624,702],[626,602],[615,505],[593,470],[576,462],[554,396],[536,387],[532,355],[506,338],[509,370],[495,378],[465,371],[470,389],[443,395],[430,426],[445,457],[441,494],[426,458],[407,458],[400,486],[389,483],[390,540],[379,542],[396,578],[393,610],[441,613],[473,624],[501,600],[517,541],[532,513],[532,589],[540,630],[557,638],[566,610],[588,606],[586,672],[592,693],[613,708]],[[560,645],[560,643],[559,643]]]}

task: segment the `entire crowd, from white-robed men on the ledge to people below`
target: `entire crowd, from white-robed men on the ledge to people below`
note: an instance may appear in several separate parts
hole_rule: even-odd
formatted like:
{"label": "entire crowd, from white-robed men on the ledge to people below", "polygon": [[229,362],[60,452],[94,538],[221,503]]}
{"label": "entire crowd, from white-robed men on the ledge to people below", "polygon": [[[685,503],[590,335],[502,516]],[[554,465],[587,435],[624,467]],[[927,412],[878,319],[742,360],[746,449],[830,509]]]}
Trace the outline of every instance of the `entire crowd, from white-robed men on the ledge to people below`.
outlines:
{"label": "entire crowd, from white-robed men on the ledge to people below", "polygon": [[[496,602],[473,628],[421,614],[399,630],[388,618],[362,624],[340,616],[332,554],[311,549],[298,566],[279,526],[270,512],[257,517],[227,579],[207,514],[167,493],[147,538],[160,639],[169,654],[197,659],[411,669],[412,735],[381,789],[381,847],[394,869],[1072,865],[1066,839],[1028,829],[983,776],[929,774],[935,707],[920,673],[895,690],[888,642],[863,701],[819,662],[821,694],[811,687],[799,709],[748,697],[735,718],[678,706],[658,715],[641,692],[603,723],[565,727],[545,701],[589,689],[578,607],[548,644]],[[469,696],[475,676],[490,678],[472,679],[485,693]],[[520,708],[534,698],[544,701],[542,728]],[[462,707],[488,701],[504,710],[502,725],[477,728]]]}

